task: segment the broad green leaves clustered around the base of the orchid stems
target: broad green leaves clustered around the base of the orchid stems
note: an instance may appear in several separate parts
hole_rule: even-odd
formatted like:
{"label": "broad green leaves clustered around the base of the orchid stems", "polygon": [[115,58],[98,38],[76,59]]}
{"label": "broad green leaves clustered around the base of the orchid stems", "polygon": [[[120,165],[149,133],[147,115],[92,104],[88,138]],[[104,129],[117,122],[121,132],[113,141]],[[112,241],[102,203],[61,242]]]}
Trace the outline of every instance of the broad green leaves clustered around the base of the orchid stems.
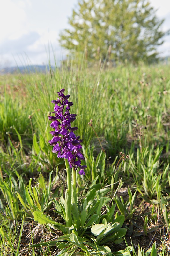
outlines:
{"label": "broad green leaves clustered around the base of the orchid stems", "polygon": [[[111,200],[105,195],[109,189],[95,189],[89,190],[85,200],[81,202],[80,208],[75,203],[72,204],[72,226],[61,225],[49,217],[43,215],[41,211],[34,212],[34,220],[40,224],[52,224],[54,229],[62,231],[65,235],[71,232],[82,237],[82,241],[87,241],[88,244],[93,244],[97,248],[107,242],[114,242],[115,244],[123,241],[123,236],[126,234],[126,229],[121,228],[124,223],[124,217],[118,215],[114,217],[115,206],[109,207],[107,203]],[[64,200],[60,197],[59,202],[55,200],[55,207],[58,214],[66,220],[66,205],[67,195]],[[102,208],[106,207],[105,214],[102,213]],[[96,238],[89,232],[91,232]],[[74,235],[75,236],[75,235]],[[94,243],[93,243],[94,242]],[[74,244],[74,243],[73,243]],[[79,246],[81,249],[82,247]]]}

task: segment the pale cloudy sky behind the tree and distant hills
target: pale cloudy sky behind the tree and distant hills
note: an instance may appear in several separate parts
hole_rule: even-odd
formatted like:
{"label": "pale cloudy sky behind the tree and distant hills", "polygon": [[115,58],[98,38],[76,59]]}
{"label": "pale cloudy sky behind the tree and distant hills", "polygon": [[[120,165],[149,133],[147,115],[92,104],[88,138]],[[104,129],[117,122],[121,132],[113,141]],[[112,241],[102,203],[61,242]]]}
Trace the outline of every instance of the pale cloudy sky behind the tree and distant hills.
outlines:
{"label": "pale cloudy sky behind the tree and distant hills", "polygon": [[[0,68],[20,65],[54,64],[65,57],[59,33],[69,28],[68,18],[78,0],[0,0]],[[170,1],[150,0],[170,29]],[[170,35],[159,46],[161,56],[170,56]],[[50,48],[50,51],[49,51]],[[49,54],[50,52],[50,54]]]}

